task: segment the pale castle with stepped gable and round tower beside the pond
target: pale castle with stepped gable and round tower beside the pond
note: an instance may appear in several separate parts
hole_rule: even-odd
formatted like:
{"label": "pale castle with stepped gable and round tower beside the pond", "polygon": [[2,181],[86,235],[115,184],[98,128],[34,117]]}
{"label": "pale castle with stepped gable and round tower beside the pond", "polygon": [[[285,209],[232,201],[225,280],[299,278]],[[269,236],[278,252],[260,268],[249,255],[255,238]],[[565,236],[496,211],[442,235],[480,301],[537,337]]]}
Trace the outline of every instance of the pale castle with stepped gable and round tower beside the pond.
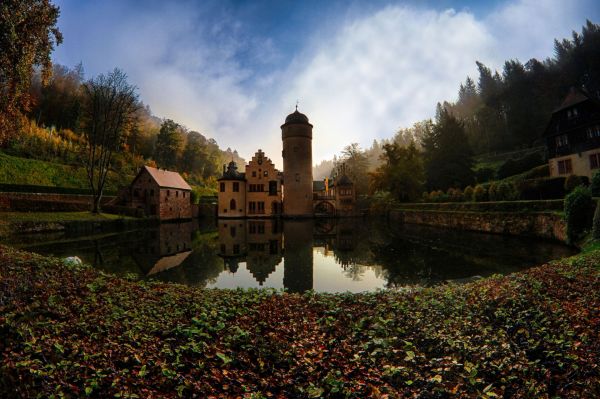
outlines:
{"label": "pale castle with stepped gable and round tower beside the pond", "polygon": [[235,162],[223,165],[218,179],[220,218],[351,216],[355,212],[354,184],[342,172],[334,180],[313,181],[312,128],[296,111],[281,125],[283,172],[258,150],[244,172]]}

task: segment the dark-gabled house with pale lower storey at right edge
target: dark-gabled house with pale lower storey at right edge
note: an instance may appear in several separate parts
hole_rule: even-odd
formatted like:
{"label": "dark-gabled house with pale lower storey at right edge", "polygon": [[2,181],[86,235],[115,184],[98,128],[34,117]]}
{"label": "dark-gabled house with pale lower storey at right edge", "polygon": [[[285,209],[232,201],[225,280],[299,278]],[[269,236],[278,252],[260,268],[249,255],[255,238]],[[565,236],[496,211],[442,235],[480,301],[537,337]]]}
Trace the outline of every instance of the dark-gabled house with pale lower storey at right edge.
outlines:
{"label": "dark-gabled house with pale lower storey at right edge", "polygon": [[600,102],[571,89],[544,133],[550,176],[591,177],[600,168]]}

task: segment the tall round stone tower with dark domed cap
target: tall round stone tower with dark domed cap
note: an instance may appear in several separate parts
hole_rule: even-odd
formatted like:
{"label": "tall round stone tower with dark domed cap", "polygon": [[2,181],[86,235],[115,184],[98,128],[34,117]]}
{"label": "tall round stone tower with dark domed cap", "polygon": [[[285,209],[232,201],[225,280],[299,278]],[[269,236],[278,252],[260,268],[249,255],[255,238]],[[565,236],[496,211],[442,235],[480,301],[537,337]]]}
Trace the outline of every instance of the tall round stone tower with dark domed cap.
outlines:
{"label": "tall round stone tower with dark domed cap", "polygon": [[296,111],[281,125],[283,140],[283,215],[312,217],[312,125]]}

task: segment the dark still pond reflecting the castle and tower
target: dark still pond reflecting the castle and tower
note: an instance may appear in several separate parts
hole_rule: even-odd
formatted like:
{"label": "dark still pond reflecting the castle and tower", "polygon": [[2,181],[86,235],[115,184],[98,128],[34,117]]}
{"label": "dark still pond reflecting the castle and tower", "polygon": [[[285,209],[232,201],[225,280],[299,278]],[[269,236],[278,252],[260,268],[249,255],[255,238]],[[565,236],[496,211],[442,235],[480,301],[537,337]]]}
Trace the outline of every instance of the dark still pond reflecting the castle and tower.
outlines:
{"label": "dark still pond reflecting the castle and tower", "polygon": [[558,243],[365,219],[165,223],[90,237],[29,234],[5,242],[79,256],[117,275],[207,288],[361,292],[506,274],[573,254]]}

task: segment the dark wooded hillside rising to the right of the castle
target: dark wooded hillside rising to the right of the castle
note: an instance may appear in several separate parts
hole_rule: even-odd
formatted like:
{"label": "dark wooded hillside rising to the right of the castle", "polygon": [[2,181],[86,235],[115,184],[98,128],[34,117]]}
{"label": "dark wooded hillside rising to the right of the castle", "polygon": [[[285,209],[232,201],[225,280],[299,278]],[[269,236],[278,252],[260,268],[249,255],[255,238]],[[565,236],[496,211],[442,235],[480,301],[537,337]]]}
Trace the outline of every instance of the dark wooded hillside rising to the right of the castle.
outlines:
{"label": "dark wooded hillside rising to the right of the castle", "polygon": [[[600,98],[598,54],[600,25],[588,20],[581,33],[555,39],[551,58],[507,60],[501,72],[477,62],[479,77],[460,84],[456,101],[438,103],[433,120],[401,128],[367,149],[350,144],[316,165],[315,178],[334,177],[345,164],[359,194],[395,201],[428,201],[422,197],[432,193],[449,200],[465,188],[475,199],[477,185],[487,190],[488,182],[528,171],[527,178],[546,178],[544,130],[571,88]],[[517,192],[501,199],[519,196],[519,187],[511,190]]]}

